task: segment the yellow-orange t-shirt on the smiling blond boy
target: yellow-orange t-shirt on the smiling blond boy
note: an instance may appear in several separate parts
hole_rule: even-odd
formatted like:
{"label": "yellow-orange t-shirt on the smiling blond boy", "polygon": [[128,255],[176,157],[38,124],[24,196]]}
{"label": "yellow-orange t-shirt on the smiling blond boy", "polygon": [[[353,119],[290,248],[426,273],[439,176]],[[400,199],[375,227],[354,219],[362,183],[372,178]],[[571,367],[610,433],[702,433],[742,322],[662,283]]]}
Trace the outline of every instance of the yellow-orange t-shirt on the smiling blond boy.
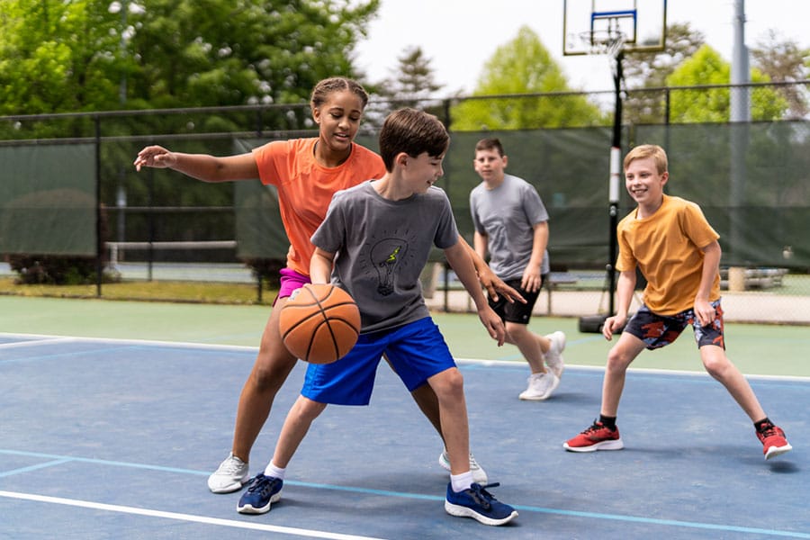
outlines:
{"label": "yellow-orange t-shirt on the smiling blond boy", "polygon": [[[617,237],[620,272],[635,270],[647,280],[644,304],[659,315],[675,315],[694,308],[703,273],[702,251],[720,236],[694,202],[663,196],[661,208],[644,219],[637,209],[619,221]],[[720,274],[712,284],[709,302],[720,298]]]}

